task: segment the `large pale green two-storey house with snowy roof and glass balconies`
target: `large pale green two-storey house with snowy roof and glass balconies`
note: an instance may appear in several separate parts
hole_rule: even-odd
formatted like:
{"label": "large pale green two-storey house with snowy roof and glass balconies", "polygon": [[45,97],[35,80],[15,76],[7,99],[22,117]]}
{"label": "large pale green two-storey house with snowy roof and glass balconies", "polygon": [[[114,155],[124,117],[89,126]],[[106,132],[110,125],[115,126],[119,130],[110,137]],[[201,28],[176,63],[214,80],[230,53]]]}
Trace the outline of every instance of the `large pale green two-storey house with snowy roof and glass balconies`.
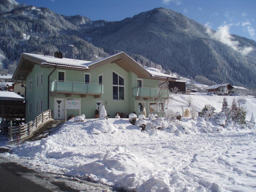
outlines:
{"label": "large pale green two-storey house with snowy roof and glass balconies", "polygon": [[[176,77],[149,72],[124,52],[97,61],[83,61],[23,53],[14,72],[13,82],[26,82],[26,122],[42,111],[53,110],[54,119],[65,119],[65,98],[81,98],[81,114],[94,118],[95,110],[104,105],[110,117],[116,112],[160,114],[153,99],[158,81]],[[169,95],[168,90],[161,90]],[[158,107],[157,107],[158,106]],[[79,115],[67,110],[67,117]]]}

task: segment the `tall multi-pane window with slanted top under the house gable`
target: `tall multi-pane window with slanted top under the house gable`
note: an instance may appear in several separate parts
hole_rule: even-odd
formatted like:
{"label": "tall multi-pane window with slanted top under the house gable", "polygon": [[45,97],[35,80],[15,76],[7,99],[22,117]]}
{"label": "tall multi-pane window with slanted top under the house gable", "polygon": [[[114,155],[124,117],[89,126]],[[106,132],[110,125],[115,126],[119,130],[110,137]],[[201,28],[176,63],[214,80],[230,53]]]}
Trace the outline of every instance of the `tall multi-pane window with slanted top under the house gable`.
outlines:
{"label": "tall multi-pane window with slanted top under the house gable", "polygon": [[113,72],[113,100],[124,100],[124,78]]}

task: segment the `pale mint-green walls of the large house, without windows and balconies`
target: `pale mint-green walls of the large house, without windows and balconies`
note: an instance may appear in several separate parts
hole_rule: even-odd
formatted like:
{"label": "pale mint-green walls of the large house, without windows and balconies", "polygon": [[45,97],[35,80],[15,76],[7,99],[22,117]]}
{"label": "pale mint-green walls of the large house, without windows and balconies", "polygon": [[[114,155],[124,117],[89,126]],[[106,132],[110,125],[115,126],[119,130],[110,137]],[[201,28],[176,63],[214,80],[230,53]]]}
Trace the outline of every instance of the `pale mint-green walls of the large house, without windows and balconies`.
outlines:
{"label": "pale mint-green walls of the large house, without windows and balconies", "polygon": [[[34,119],[40,114],[40,100],[43,102],[42,111],[47,109],[47,93],[48,93],[48,75],[54,70],[54,68],[42,68],[40,65],[35,65],[32,72],[26,78],[26,122]],[[95,109],[97,107],[96,101],[103,101],[103,105],[110,118],[114,118],[116,112],[123,112],[130,114],[133,111],[136,114],[142,114],[138,112],[138,102],[133,97],[132,88],[137,87],[137,75],[133,72],[125,71],[115,63],[108,63],[100,66],[94,70],[89,71],[78,71],[70,69],[56,69],[50,76],[50,82],[58,79],[58,71],[66,72],[66,81],[84,82],[84,74],[90,74],[90,83],[98,83],[99,75],[103,74],[103,94],[101,98],[94,98],[93,95],[81,98],[81,114],[85,114],[86,118],[94,118]],[[113,79],[112,72],[117,73],[124,78],[125,84],[125,100],[113,100]],[[43,74],[43,86],[36,87],[36,75]],[[29,91],[29,81],[32,80],[32,90]],[[40,78],[39,78],[40,80]],[[142,79],[143,87],[158,88],[158,80],[154,79]],[[80,95],[73,94],[70,97],[66,97],[66,94],[57,94],[55,96],[49,96],[49,108],[54,111],[54,99],[79,99]],[[35,101],[38,101],[38,112],[35,109]],[[154,102],[153,99],[144,101],[147,114],[149,113],[149,102]],[[29,111],[29,103],[32,103],[32,113]],[[157,112],[154,112],[157,113]],[[79,115],[79,110],[67,110],[67,117],[73,114],[74,116]],[[160,113],[158,113],[160,114]]]}

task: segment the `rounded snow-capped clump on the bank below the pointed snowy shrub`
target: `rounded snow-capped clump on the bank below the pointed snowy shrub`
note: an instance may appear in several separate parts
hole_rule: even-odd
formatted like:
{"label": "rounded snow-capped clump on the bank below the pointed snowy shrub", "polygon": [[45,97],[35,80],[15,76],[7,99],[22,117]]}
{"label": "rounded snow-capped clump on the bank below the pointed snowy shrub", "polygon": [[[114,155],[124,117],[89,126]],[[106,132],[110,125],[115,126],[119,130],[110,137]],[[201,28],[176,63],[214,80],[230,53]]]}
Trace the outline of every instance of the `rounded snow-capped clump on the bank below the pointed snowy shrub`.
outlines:
{"label": "rounded snow-capped clump on the bank below the pointed snowy shrub", "polygon": [[101,134],[101,133],[114,133],[116,132],[116,128],[112,123],[109,122],[95,122],[90,125],[89,134]]}

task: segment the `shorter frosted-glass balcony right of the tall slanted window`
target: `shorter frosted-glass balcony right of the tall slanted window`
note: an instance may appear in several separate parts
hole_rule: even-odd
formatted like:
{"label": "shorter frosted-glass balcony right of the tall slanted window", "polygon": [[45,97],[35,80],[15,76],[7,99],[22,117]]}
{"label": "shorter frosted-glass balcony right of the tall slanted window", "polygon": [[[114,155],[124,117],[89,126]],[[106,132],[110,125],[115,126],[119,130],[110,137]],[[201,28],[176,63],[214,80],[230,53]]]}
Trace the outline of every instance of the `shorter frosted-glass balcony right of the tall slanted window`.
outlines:
{"label": "shorter frosted-glass balcony right of the tall slanted window", "polygon": [[146,87],[135,87],[132,88],[132,95],[136,100],[139,100],[140,97],[147,100],[148,98],[156,98],[161,95],[161,97],[168,98],[169,90],[168,89],[155,89],[155,88],[146,88]]}

